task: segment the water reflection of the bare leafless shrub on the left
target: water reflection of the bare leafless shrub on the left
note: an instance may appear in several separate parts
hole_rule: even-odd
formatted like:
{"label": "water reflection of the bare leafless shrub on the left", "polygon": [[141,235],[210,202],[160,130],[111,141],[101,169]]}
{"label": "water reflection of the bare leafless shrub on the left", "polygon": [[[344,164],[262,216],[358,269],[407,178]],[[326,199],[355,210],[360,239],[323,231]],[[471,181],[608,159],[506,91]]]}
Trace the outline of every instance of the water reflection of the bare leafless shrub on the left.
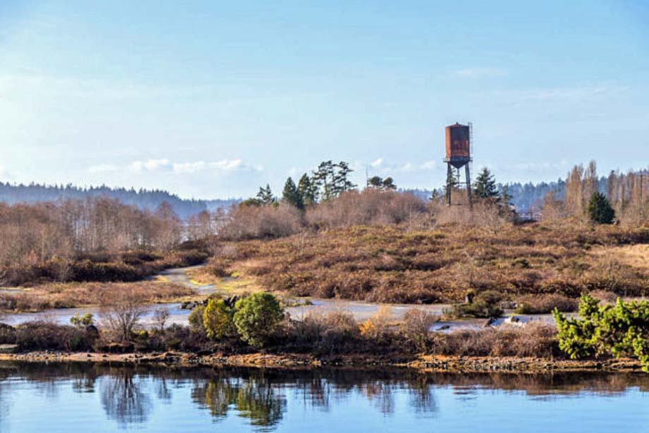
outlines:
{"label": "water reflection of the bare leafless shrub on the left", "polygon": [[109,419],[119,425],[145,422],[152,410],[149,396],[140,389],[133,370],[116,370],[102,377],[99,394]]}

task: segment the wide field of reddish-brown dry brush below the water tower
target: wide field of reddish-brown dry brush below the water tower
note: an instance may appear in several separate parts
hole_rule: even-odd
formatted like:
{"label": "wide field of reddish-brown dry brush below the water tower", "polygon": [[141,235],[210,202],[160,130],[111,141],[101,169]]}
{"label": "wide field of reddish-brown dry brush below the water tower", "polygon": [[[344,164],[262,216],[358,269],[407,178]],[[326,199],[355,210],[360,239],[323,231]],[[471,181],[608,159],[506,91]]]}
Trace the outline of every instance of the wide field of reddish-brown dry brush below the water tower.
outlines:
{"label": "wide field of reddish-brown dry brush below the water tower", "polygon": [[643,295],[647,267],[594,251],[646,242],[648,231],[616,226],[352,226],[222,243],[207,270],[236,271],[269,291],[387,303],[458,302],[490,290],[510,300],[593,290]]}

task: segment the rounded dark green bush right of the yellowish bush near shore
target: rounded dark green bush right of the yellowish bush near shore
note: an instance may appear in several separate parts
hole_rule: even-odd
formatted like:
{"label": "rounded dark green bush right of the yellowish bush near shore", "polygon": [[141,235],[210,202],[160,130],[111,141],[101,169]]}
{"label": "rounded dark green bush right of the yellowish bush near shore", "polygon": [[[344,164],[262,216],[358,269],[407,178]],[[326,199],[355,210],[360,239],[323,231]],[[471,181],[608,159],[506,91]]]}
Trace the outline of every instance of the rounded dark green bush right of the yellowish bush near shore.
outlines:
{"label": "rounded dark green bush right of the yellowish bush near shore", "polygon": [[284,310],[270,293],[253,293],[236,301],[234,309],[234,324],[241,339],[256,347],[265,346],[284,319]]}

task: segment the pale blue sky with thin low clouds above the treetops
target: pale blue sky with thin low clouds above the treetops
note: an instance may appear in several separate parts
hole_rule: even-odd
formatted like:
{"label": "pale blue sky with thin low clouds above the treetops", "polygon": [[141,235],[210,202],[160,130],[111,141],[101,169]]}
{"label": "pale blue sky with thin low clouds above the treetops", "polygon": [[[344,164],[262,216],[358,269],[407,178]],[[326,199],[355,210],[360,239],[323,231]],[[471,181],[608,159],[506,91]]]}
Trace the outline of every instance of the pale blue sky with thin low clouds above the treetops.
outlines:
{"label": "pale blue sky with thin low clouds above the treetops", "polygon": [[649,166],[649,1],[0,1],[0,181],[276,192]]}

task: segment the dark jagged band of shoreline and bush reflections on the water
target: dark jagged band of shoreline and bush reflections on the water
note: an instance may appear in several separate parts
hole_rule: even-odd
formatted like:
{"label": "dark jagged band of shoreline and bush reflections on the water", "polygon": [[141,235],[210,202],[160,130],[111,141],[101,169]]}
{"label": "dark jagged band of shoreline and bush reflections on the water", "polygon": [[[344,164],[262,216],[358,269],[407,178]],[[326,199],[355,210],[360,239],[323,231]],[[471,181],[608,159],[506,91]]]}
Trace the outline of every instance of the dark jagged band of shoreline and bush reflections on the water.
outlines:
{"label": "dark jagged band of shoreline and bush reflections on the water", "polygon": [[[533,398],[557,398],[583,391],[619,396],[630,388],[649,391],[649,375],[575,372],[444,374],[385,369],[166,370],[0,362],[0,426],[11,417],[12,410],[17,409],[18,403],[8,396],[18,389],[18,384],[22,389],[26,387],[35,394],[56,400],[61,410],[72,413],[74,403],[70,403],[69,398],[61,398],[67,391],[80,398],[98,394],[103,419],[122,428],[149,426],[156,417],[152,415],[156,408],[165,405],[165,411],[182,407],[178,417],[183,420],[202,420],[203,415],[207,415],[212,422],[221,423],[236,418],[257,430],[269,430],[283,425],[293,405],[311,412],[329,412],[346,406],[350,401],[357,404],[364,401],[373,408],[375,415],[397,417],[403,416],[406,410],[416,417],[430,418],[440,415],[439,393],[468,405],[483,395],[485,389],[516,390],[521,391],[517,394]],[[190,409],[187,403],[191,405]],[[195,410],[195,413],[188,410]]]}

